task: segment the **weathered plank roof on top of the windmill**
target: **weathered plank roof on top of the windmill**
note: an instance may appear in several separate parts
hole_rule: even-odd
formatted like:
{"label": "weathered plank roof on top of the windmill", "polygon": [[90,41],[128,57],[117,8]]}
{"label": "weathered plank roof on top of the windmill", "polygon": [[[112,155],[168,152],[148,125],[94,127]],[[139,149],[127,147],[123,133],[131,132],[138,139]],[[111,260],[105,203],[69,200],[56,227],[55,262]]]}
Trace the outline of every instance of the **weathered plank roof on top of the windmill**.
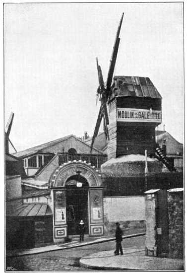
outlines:
{"label": "weathered plank roof on top of the windmill", "polygon": [[148,77],[114,76],[113,83],[112,89],[116,96],[162,98]]}

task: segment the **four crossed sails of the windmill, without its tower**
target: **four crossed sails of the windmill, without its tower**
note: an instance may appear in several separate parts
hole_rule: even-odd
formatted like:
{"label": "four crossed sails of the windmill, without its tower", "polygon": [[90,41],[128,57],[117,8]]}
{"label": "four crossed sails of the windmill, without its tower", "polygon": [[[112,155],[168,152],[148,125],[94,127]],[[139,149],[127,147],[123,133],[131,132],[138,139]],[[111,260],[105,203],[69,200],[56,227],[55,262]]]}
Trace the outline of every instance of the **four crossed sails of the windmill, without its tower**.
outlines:
{"label": "four crossed sails of the windmill, without its tower", "polygon": [[106,85],[104,84],[102,70],[98,64],[98,59],[97,59],[97,71],[98,71],[98,78],[99,78],[99,87],[97,89],[97,97],[101,101],[101,107],[99,110],[99,115],[97,118],[97,123],[95,126],[95,130],[94,130],[94,134],[93,134],[93,138],[92,138],[92,142],[91,142],[90,152],[93,149],[95,137],[98,135],[102,118],[103,118],[103,122],[104,122],[104,132],[105,132],[107,139],[109,140],[109,133],[108,133],[109,118],[108,118],[108,111],[107,111],[107,102],[108,102],[108,98],[110,96],[110,88],[111,88],[111,84],[112,84],[114,68],[116,65],[116,59],[117,59],[117,55],[118,55],[118,48],[119,48],[119,44],[120,44],[120,37],[119,36],[120,36],[120,30],[121,30],[121,26],[122,26],[123,17],[124,17],[124,13],[122,14],[120,24],[118,26],[118,31],[116,34],[116,39],[115,39],[112,57],[111,57],[111,61],[110,61],[110,67],[108,70]]}

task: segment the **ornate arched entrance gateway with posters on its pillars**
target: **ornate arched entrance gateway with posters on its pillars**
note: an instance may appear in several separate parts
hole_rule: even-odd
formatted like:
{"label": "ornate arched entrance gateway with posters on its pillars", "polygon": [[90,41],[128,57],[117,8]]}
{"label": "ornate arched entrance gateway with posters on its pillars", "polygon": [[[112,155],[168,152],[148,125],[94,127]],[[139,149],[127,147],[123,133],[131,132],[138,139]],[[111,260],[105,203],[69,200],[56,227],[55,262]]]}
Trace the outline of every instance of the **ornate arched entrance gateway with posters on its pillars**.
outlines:
{"label": "ornate arched entrance gateway with posters on its pillars", "polygon": [[79,234],[81,219],[85,222],[86,234],[103,235],[103,187],[94,167],[81,161],[64,163],[53,172],[49,187],[55,242]]}

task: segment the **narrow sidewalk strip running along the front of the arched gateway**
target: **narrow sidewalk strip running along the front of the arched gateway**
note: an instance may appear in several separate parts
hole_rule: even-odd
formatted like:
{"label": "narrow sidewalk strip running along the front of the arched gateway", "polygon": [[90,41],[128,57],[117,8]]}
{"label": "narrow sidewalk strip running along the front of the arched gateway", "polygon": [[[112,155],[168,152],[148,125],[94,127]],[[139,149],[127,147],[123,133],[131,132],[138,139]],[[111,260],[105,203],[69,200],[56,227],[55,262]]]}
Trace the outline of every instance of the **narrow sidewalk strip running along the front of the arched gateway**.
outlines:
{"label": "narrow sidewalk strip running along the front of the arched gateway", "polygon": [[[131,237],[137,237],[137,236],[143,236],[145,233],[136,233],[131,235],[125,235],[123,238],[131,238]],[[56,250],[62,250],[62,249],[70,249],[70,248],[77,248],[77,247],[83,247],[87,245],[93,245],[93,244],[99,244],[104,242],[110,242],[114,241],[115,237],[108,238],[108,237],[86,237],[84,238],[84,242],[79,242],[79,237],[72,238],[72,241],[69,243],[59,244],[59,245],[50,245],[45,247],[37,247],[37,248],[31,248],[31,249],[25,249],[25,250],[12,250],[7,251],[6,256],[7,257],[15,257],[15,256],[23,256],[23,255],[32,255],[37,253],[43,253],[43,252],[49,252],[49,251],[56,251]]]}

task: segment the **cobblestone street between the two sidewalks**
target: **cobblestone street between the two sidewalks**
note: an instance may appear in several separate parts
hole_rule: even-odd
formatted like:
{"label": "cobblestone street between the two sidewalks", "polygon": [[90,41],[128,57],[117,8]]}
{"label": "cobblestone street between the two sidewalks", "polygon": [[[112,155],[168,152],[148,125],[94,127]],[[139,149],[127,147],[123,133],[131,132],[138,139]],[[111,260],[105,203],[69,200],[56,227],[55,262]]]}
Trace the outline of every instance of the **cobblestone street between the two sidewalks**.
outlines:
{"label": "cobblestone street between the two sidewalks", "polygon": [[[123,240],[123,248],[143,245],[144,236]],[[16,271],[88,271],[80,268],[79,259],[106,250],[114,251],[115,241],[36,255],[10,257],[6,260],[6,271],[7,267],[12,267]]]}

